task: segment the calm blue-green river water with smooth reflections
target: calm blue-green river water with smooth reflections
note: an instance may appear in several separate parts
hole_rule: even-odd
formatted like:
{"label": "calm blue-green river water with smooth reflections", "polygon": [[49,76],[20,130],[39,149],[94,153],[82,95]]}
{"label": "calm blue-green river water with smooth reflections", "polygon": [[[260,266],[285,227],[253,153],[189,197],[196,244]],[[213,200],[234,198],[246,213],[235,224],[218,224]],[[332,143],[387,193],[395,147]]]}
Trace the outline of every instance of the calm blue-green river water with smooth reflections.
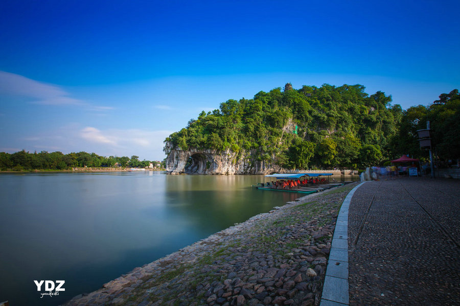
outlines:
{"label": "calm blue-green river water with smooth reflections", "polygon": [[[0,174],[0,302],[58,305],[303,196],[250,187],[264,181],[162,172]],[[40,298],[34,280],[64,280],[65,292]]]}

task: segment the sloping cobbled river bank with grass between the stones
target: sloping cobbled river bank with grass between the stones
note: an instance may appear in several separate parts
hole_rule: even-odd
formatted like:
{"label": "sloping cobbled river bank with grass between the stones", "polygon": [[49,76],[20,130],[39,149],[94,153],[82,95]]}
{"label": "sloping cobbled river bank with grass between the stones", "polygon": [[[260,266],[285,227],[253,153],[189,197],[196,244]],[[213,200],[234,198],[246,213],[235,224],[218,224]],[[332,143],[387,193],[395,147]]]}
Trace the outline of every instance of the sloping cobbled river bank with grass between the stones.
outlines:
{"label": "sloping cobbled river bank with grass between the stones", "polygon": [[319,305],[337,214],[354,186],[288,202],[65,305]]}

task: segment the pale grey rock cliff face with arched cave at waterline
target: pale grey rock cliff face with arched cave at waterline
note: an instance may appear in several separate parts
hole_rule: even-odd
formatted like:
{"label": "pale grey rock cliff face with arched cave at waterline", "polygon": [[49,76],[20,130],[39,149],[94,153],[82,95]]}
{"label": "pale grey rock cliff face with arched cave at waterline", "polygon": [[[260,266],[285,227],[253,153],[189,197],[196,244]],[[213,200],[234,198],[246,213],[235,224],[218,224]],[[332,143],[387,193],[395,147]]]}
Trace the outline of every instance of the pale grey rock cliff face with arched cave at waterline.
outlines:
{"label": "pale grey rock cliff face with arched cave at waterline", "polygon": [[[237,159],[237,154],[231,150],[217,152],[212,149],[189,148],[182,150],[173,147],[170,142],[165,145],[166,171],[171,174],[267,174],[283,172],[285,169],[274,164],[274,161],[257,161],[246,152]],[[187,161],[191,158],[191,163]],[[187,167],[186,167],[187,166]]]}

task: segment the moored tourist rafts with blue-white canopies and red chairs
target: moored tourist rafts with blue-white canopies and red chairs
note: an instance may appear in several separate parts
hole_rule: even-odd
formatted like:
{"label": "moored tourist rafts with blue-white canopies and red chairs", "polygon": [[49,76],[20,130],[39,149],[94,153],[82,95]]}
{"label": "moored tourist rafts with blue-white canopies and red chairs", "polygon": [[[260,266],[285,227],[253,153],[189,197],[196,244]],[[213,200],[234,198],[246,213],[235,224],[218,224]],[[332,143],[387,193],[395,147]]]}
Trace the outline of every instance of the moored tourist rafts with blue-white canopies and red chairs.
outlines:
{"label": "moored tourist rafts with blue-white canopies and red chairs", "polygon": [[[345,182],[330,182],[330,175],[332,175],[332,173],[274,173],[265,175],[265,177],[273,177],[277,180],[276,182],[259,183],[255,187],[261,190],[288,191],[310,194],[345,184]],[[320,176],[327,176],[328,180],[326,181],[324,177]]]}

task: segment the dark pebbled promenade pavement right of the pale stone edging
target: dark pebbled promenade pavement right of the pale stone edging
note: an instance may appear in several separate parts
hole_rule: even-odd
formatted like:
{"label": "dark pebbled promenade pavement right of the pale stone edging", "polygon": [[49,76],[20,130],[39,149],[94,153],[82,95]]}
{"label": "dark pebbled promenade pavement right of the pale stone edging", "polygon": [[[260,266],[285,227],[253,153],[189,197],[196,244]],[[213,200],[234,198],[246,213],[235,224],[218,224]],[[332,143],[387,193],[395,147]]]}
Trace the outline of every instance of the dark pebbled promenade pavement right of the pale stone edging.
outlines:
{"label": "dark pebbled promenade pavement right of the pale stone edging", "polygon": [[460,181],[368,182],[348,219],[350,305],[460,305]]}

